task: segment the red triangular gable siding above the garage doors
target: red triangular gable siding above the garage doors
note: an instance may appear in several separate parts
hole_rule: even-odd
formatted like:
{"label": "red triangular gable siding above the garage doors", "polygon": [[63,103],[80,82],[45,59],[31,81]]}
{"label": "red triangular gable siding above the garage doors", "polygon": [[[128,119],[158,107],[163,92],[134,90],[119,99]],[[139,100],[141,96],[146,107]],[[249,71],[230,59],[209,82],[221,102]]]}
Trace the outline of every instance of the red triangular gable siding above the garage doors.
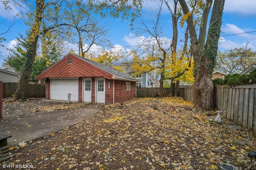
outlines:
{"label": "red triangular gable siding above the garage doors", "polygon": [[[68,64],[68,59],[72,59],[71,64]],[[87,63],[79,57],[69,54],[39,74],[35,79],[64,77],[106,77],[112,79],[112,74]]]}

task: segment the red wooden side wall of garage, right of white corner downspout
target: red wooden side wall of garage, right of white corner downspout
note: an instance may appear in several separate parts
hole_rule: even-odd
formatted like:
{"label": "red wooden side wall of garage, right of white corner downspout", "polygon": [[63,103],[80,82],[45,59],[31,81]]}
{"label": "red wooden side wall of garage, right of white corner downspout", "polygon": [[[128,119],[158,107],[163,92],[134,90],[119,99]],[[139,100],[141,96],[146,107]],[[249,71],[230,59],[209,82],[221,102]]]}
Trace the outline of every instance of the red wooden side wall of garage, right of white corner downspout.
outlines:
{"label": "red wooden side wall of garage, right of white corner downspout", "polygon": [[136,82],[130,82],[130,90],[125,89],[126,81],[115,80],[115,103],[124,102],[135,97]]}

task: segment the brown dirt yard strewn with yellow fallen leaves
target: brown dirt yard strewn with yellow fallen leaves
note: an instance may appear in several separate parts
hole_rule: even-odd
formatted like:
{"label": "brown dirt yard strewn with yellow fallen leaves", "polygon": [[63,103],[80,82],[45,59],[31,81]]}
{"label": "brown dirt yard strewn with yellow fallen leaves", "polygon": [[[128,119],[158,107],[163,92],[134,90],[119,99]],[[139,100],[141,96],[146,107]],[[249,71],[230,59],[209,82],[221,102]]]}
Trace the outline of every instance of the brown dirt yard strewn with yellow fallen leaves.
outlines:
{"label": "brown dirt yard strewn with yellow fallen leaves", "polygon": [[[256,135],[222,119],[209,124],[214,111],[193,111],[182,98],[134,98],[104,105],[92,117],[37,140],[10,147],[0,163],[46,170],[238,170],[256,169],[248,152]],[[38,110],[39,109],[39,110]],[[40,112],[37,108],[37,112]],[[0,168],[0,169],[1,169]],[[26,169],[26,168],[22,168]]]}

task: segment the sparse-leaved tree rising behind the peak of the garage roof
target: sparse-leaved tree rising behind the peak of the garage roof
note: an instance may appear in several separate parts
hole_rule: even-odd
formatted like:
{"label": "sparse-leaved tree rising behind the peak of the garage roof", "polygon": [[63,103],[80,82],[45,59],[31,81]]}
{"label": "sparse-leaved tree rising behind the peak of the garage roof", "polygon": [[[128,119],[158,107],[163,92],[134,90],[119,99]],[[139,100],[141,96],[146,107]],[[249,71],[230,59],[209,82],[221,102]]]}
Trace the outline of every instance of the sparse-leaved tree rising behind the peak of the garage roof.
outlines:
{"label": "sparse-leaved tree rising behind the peak of the garage roof", "polygon": [[96,18],[94,7],[83,0],[66,2],[66,8],[59,14],[58,22],[68,23],[65,29],[70,30],[69,34],[72,35],[70,41],[78,40],[79,55],[85,57],[92,45],[110,46],[106,38],[108,24],[101,23]]}

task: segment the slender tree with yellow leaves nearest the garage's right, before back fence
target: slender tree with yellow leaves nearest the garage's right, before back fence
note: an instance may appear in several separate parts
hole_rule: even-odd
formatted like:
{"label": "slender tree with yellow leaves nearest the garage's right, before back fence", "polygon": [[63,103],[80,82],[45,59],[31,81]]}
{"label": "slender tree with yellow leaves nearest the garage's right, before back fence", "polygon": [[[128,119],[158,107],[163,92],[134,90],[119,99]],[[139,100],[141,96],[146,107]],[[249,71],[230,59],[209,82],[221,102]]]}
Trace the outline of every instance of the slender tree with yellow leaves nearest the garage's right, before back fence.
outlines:
{"label": "slender tree with yellow leaves nearest the garage's right, before back fence", "polygon": [[[156,20],[152,20],[151,24],[146,23],[146,21],[142,20],[141,27],[138,28],[138,33],[143,34],[146,33],[150,36],[148,40],[143,42],[143,45],[146,46],[144,49],[144,56],[138,57],[138,55],[134,55],[134,69],[139,68],[139,72],[150,72],[152,70],[158,70],[160,73],[160,90],[159,90],[159,98],[164,97],[164,80],[165,80],[165,66],[166,60],[170,57],[170,53],[168,53],[168,48],[166,49],[167,39],[163,38],[162,27],[164,27],[161,23],[161,3],[158,14],[156,14]],[[169,55],[169,56],[168,56]],[[140,66],[142,63],[142,66]],[[144,65],[144,66],[143,66]]]}

